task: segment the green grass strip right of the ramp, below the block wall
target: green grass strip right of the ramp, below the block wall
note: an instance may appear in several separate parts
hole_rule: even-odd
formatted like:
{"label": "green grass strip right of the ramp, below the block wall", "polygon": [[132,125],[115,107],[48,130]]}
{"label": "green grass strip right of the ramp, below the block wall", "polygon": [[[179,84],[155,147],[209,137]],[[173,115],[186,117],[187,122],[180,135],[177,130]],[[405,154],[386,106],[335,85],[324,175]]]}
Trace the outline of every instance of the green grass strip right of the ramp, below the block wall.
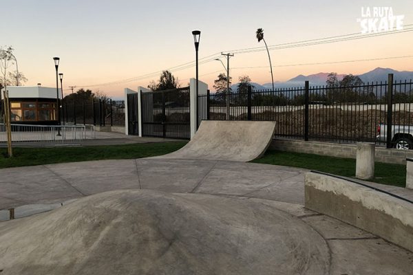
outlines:
{"label": "green grass strip right of the ramp, below the block wall", "polygon": [[[356,159],[268,150],[262,158],[255,159],[253,162],[306,168],[343,177],[356,175]],[[374,179],[370,181],[405,187],[406,166],[376,162]]]}

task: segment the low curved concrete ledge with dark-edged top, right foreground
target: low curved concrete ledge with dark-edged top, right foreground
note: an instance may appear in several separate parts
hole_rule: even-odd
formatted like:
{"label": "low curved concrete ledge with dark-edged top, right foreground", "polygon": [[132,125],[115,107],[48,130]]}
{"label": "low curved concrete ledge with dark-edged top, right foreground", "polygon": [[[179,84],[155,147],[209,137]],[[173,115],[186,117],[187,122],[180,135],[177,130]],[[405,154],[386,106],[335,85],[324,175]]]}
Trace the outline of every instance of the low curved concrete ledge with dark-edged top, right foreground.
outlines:
{"label": "low curved concrete ledge with dark-edged top, right foreground", "polygon": [[305,206],[413,251],[413,203],[346,179],[306,173]]}

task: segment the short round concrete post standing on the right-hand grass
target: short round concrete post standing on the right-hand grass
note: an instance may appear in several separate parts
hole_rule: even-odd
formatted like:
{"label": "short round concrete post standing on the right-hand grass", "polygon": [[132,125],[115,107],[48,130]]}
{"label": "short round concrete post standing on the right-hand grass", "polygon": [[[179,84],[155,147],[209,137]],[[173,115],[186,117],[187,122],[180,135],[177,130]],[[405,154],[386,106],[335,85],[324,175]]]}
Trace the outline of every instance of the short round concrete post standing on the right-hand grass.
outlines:
{"label": "short round concrete post standing on the right-hand grass", "polygon": [[356,177],[358,179],[372,179],[374,177],[374,143],[357,144]]}

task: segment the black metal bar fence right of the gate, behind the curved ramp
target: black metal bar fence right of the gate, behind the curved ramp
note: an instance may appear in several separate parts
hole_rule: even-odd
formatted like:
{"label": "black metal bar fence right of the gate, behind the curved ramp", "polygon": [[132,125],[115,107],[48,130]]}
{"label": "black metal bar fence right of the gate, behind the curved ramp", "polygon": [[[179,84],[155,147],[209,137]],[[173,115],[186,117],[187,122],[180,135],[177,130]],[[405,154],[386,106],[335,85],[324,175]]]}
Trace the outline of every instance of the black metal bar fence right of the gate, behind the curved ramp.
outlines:
{"label": "black metal bar fence right of the gate, behind the curved ramp", "polygon": [[[412,80],[393,81],[390,75],[385,82],[346,87],[303,84],[274,91],[249,87],[229,96],[200,95],[198,115],[200,120],[276,121],[277,137],[303,140],[377,142],[391,147],[392,129],[403,126],[406,137],[413,133]],[[390,132],[379,135],[379,125]]]}

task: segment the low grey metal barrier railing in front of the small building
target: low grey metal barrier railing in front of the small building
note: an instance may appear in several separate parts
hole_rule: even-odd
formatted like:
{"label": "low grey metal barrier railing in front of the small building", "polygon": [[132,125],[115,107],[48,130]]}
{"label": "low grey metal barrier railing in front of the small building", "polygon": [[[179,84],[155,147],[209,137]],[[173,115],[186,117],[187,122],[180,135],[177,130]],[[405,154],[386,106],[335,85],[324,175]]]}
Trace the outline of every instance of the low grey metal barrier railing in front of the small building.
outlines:
{"label": "low grey metal barrier railing in front of the small building", "polygon": [[[95,137],[93,125],[12,124],[12,142],[53,142],[65,144]],[[5,124],[0,124],[0,142],[7,142]]]}

